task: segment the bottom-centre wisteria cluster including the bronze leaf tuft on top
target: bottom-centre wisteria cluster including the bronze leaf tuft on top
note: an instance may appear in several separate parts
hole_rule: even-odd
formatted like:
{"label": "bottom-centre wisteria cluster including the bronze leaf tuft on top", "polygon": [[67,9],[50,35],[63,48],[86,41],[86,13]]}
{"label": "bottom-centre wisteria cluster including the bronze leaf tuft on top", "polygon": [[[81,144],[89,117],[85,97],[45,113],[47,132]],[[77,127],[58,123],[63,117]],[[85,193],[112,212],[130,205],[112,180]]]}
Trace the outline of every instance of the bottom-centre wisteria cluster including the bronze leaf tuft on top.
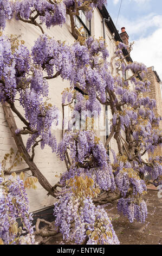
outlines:
{"label": "bottom-centre wisteria cluster including the bronze leaf tuft on top", "polygon": [[[55,203],[55,225],[63,239],[81,244],[119,244],[110,218],[105,210],[93,204],[92,197],[100,192],[88,176],[75,176],[66,182],[59,202]],[[74,223],[74,224],[72,224]],[[73,230],[74,228],[74,230]]]}

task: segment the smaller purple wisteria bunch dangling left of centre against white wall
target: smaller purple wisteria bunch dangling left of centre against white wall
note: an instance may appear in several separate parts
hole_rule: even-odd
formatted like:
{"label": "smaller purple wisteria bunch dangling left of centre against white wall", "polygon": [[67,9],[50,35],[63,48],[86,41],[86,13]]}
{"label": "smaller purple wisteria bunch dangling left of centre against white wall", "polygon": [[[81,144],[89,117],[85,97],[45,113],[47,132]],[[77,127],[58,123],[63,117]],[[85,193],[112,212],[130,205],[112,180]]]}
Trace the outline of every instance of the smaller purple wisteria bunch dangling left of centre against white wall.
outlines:
{"label": "smaller purple wisteria bunch dangling left of centre against white wall", "polygon": [[56,151],[57,142],[51,132],[51,127],[53,123],[58,124],[58,109],[48,102],[43,102],[41,95],[34,88],[31,90],[26,89],[24,93],[22,92],[20,99],[25,111],[25,118],[29,121],[30,128],[34,131],[34,134],[27,140],[27,150],[30,151],[31,146],[39,138],[42,149],[45,145],[49,145],[53,152]]}

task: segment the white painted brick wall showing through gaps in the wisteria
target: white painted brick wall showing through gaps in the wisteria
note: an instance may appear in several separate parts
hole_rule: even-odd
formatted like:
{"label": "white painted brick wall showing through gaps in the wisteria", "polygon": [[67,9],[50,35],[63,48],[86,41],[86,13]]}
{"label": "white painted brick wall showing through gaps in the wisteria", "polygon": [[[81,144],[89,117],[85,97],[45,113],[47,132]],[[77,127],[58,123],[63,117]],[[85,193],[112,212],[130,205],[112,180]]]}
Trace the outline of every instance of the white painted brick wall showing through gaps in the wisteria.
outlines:
{"label": "white painted brick wall showing through gaps in the wisteria", "polygon": [[[96,38],[99,36],[103,36],[102,33],[102,17],[98,10],[94,11],[94,17],[92,20],[92,35],[95,35]],[[66,40],[69,44],[73,44],[74,38],[71,34],[71,28],[69,23],[69,17],[67,16],[66,25],[60,27],[55,26],[47,31],[46,27],[43,26],[44,32],[50,36],[54,36],[56,40],[64,41]],[[25,41],[25,45],[31,49],[34,45],[34,41],[41,35],[40,29],[35,27],[34,25],[30,25],[27,23],[23,23],[21,21],[16,21],[12,19],[11,21],[7,22],[7,28],[4,32],[6,35],[10,34],[17,34],[21,35],[20,39]],[[108,33],[109,37],[112,37],[111,33],[108,31],[106,27],[106,33]],[[108,41],[109,52],[114,52],[114,45],[109,41],[109,38],[106,39]],[[61,92],[64,88],[69,87],[69,83],[67,81],[62,81],[60,77],[55,78],[54,80],[49,81],[49,97],[51,98],[50,102],[53,105],[56,105],[60,110],[62,109],[61,106]],[[21,107],[18,106],[16,102],[16,107],[19,111],[22,111]],[[23,127],[22,122],[20,119],[16,117],[14,114],[16,123],[18,128]],[[61,131],[57,130],[54,131],[54,135],[56,135],[57,143],[61,140]],[[105,143],[105,136],[102,136],[102,141]],[[27,136],[23,136],[24,144],[27,141]],[[7,122],[4,119],[3,109],[0,106],[0,162],[2,161],[4,154],[8,153],[10,148],[14,148],[15,152],[17,151],[15,142],[10,135],[9,128],[7,126]],[[111,142],[111,148],[114,150],[117,149],[117,145],[115,141]],[[55,177],[55,175],[60,175],[62,172],[66,170],[66,166],[64,162],[61,162],[57,159],[56,154],[51,152],[49,147],[45,147],[44,150],[41,150],[40,147],[35,149],[35,163],[37,167],[40,168],[41,172],[44,176],[46,176],[47,180],[50,182],[51,185],[54,185],[59,179]],[[27,164],[22,163],[20,166],[17,166],[16,169],[27,168]],[[26,176],[30,174],[30,171],[25,174]],[[45,191],[40,184],[37,184],[37,190],[27,190],[28,198],[30,202],[30,210],[35,211],[45,206],[52,205],[55,199],[51,196],[47,197],[47,191]]]}

